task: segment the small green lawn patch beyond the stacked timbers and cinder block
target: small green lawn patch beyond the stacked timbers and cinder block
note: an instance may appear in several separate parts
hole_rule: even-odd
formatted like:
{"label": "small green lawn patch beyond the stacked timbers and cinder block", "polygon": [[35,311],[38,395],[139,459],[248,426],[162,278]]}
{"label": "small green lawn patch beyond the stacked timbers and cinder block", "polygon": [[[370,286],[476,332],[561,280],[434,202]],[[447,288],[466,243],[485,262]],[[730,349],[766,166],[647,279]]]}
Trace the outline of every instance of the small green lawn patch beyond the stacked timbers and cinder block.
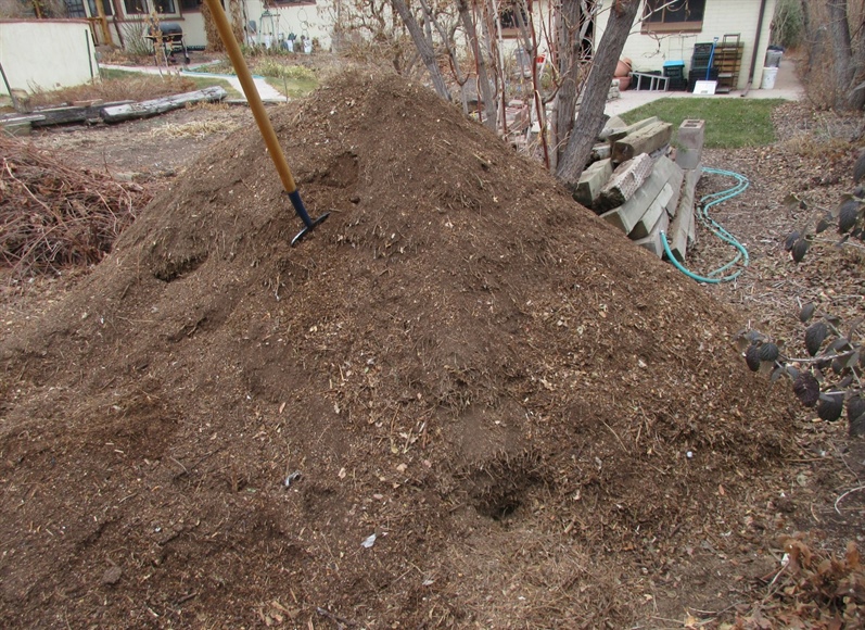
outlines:
{"label": "small green lawn patch beyond the stacked timbers and cinder block", "polygon": [[[705,121],[705,147],[710,149],[738,149],[772,144],[775,129],[772,111],[784,103],[781,99],[699,98],[660,99],[636,110],[625,112],[621,118],[633,124],[658,116],[678,129],[682,121]],[[673,138],[675,144],[675,136]]]}

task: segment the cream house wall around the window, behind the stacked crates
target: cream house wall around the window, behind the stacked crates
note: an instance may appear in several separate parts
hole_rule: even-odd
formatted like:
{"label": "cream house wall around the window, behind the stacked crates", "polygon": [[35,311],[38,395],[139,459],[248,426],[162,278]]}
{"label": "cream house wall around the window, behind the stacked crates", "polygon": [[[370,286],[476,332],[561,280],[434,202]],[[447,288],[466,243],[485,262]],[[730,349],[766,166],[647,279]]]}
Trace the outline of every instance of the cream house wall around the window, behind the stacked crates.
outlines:
{"label": "cream house wall around the window, behind the stacked crates", "polygon": [[[596,42],[600,41],[599,38],[607,26],[612,2],[613,0],[603,0],[602,2],[601,13],[597,22],[598,39],[596,39]],[[775,3],[776,0],[766,0],[760,43],[756,50],[754,77],[751,84],[752,89],[759,88],[763,79],[763,65],[766,58],[766,48],[769,43],[769,28],[772,16],[775,13]],[[748,85],[751,60],[754,55],[754,36],[760,15],[760,0],[707,0],[701,33],[645,35],[640,33],[640,23],[637,21],[622,51],[622,56],[631,59],[632,67],[636,72],[660,71],[663,68],[665,61],[679,60],[685,62],[685,71],[689,72],[695,43],[711,43],[714,37],[717,37],[718,41],[723,41],[724,35],[739,34],[745,48],[742,50],[737,87],[742,90]],[[641,14],[643,9],[638,12],[638,15]]]}

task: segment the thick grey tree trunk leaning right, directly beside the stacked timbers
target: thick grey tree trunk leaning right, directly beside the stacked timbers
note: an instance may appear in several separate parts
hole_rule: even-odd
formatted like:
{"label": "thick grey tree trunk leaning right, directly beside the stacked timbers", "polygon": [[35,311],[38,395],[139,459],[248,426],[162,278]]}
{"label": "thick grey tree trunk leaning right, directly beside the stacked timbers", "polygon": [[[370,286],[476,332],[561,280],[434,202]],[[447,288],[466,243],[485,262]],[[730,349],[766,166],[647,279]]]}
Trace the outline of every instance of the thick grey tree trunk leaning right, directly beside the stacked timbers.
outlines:
{"label": "thick grey tree trunk leaning right, directly beside the stacked timbers", "polygon": [[576,188],[580,174],[588,162],[591,147],[603,125],[607,94],[610,92],[619,56],[631,34],[639,5],[639,0],[615,0],[610,9],[610,20],[607,22],[607,29],[598,45],[591,72],[586,81],[580,116],[576,118],[576,125],[568,140],[568,148],[557,169],[559,179],[571,189]]}

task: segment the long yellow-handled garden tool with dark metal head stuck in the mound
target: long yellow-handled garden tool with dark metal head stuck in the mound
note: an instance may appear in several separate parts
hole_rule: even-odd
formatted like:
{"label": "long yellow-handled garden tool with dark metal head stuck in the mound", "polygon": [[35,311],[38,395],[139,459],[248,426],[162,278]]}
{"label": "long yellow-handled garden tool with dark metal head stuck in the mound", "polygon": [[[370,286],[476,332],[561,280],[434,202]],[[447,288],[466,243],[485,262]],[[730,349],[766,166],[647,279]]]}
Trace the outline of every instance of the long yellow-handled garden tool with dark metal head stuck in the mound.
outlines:
{"label": "long yellow-handled garden tool with dark metal head stuck in the mound", "polygon": [[285,154],[282,152],[282,147],[279,146],[276,131],[274,131],[274,125],[270,124],[270,118],[267,116],[267,112],[265,112],[264,103],[262,103],[262,97],[258,96],[258,89],[255,87],[252,73],[250,73],[250,68],[246,66],[246,61],[243,59],[243,53],[240,50],[240,45],[237,38],[234,38],[234,34],[231,32],[231,25],[228,23],[225,10],[219,0],[204,1],[211,10],[216,30],[219,33],[222,43],[226,45],[228,58],[231,60],[231,65],[234,66],[234,72],[238,74],[243,93],[246,94],[246,100],[255,117],[255,123],[258,125],[258,130],[262,133],[270,158],[274,160],[274,165],[277,167],[277,173],[279,173],[279,178],[282,180],[282,186],[297,216],[304,222],[305,227],[291,240],[291,244],[295,245],[307,234],[313,231],[318,224],[323,223],[325,219],[328,218],[329,213],[322,214],[315,220],[309,218],[309,213],[306,212],[306,207],[304,207],[303,201],[301,200],[301,193],[297,190],[297,185],[294,182],[289,163],[285,161]]}

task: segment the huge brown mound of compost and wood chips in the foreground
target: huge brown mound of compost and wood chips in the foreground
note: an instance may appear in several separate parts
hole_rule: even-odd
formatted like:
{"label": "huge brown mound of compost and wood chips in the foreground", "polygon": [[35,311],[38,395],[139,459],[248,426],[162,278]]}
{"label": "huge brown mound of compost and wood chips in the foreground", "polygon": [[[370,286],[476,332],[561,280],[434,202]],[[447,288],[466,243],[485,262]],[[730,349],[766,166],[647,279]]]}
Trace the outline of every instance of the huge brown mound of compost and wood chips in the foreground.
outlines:
{"label": "huge brown mound of compost and wood chips in the foreground", "polygon": [[741,572],[687,558],[792,428],[735,316],[422,86],[274,121],[301,245],[245,128],[0,346],[2,625],[623,627]]}

